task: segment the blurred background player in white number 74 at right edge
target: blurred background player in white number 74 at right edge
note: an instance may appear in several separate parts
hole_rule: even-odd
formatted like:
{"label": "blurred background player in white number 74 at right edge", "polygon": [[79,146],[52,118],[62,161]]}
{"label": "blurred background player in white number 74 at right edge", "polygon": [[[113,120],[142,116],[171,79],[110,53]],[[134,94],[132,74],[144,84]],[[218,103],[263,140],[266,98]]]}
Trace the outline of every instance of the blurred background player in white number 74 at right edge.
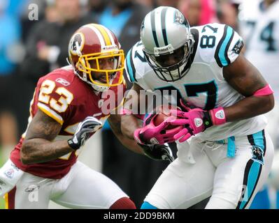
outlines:
{"label": "blurred background player in white number 74 at right edge", "polygon": [[[274,109],[266,114],[266,129],[279,157],[279,1],[243,1],[239,11],[239,28],[245,40],[245,56],[259,69],[274,90]],[[274,159],[269,182],[279,190],[279,160]],[[279,193],[278,193],[279,198]],[[260,202],[261,205],[264,202]],[[279,208],[279,201],[278,201]]]}

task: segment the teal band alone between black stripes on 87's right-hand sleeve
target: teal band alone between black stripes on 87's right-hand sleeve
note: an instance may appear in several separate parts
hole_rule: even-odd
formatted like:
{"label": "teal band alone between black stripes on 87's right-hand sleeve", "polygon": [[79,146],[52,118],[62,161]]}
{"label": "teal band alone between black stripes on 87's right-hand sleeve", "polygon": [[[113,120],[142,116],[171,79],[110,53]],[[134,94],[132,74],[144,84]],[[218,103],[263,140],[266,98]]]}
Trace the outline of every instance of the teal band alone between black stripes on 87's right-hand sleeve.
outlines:
{"label": "teal band alone between black stripes on 87's right-hand sleeve", "polygon": [[222,63],[222,66],[228,66],[230,61],[227,56],[229,44],[231,43],[232,37],[234,36],[234,29],[232,29],[230,26],[227,26],[227,35],[224,38],[224,41],[220,47],[220,51],[218,53],[220,62]]}

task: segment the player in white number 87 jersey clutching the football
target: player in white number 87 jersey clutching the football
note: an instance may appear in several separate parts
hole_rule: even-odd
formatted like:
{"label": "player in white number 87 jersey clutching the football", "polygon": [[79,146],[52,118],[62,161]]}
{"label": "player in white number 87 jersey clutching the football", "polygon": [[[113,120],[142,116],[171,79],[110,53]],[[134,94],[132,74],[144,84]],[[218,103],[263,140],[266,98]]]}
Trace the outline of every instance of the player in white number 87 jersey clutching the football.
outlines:
{"label": "player in white number 87 jersey clutching the football", "polygon": [[[126,58],[127,76],[138,95],[124,103],[122,132],[145,153],[164,153],[152,144],[176,141],[171,162],[141,208],[189,208],[210,197],[206,208],[249,208],[266,181],[273,143],[261,114],[273,108],[273,91],[241,53],[243,40],[230,26],[190,29],[179,10],[159,7],[145,16],[141,41]],[[176,90],[179,118],[143,126],[131,107],[143,90]],[[169,130],[169,125],[177,125]]]}

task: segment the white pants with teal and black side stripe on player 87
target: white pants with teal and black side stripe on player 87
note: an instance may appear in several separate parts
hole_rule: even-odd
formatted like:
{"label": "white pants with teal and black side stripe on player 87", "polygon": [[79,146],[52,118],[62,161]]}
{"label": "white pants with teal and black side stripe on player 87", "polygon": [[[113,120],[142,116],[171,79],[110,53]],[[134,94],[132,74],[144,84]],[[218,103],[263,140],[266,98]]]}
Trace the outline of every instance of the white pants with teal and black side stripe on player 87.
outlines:
{"label": "white pants with teal and black side stripe on player 87", "polygon": [[189,208],[211,196],[206,208],[249,208],[269,176],[273,144],[261,131],[235,137],[235,145],[235,156],[227,157],[227,144],[195,137],[189,144],[178,144],[178,158],[145,201],[156,208]]}

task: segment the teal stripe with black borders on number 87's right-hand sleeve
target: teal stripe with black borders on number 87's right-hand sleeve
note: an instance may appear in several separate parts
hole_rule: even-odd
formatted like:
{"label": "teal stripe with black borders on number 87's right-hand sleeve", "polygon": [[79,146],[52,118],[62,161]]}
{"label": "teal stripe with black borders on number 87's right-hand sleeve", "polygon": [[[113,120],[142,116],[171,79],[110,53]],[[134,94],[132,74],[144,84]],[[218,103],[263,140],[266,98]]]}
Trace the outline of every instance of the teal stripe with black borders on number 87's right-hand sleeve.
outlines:
{"label": "teal stripe with black borders on number 87's right-hand sleeve", "polygon": [[234,30],[230,26],[224,26],[224,34],[217,45],[215,52],[215,60],[218,66],[228,66],[231,61],[228,57],[228,49],[231,44],[231,40],[234,38]]}

